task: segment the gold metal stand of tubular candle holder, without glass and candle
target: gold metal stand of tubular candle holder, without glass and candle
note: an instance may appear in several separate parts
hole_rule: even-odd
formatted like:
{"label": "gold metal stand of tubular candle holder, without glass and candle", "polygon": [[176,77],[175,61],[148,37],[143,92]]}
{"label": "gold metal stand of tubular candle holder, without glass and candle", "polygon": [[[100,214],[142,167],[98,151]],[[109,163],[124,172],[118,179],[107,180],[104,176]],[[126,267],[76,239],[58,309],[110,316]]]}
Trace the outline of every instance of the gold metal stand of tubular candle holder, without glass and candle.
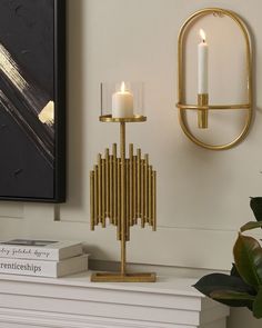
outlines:
{"label": "gold metal stand of tubular candle holder, without glass and candle", "polygon": [[107,219],[117,227],[117,239],[121,242],[121,268],[119,272],[97,272],[91,281],[154,282],[154,272],[132,274],[127,271],[127,241],[130,240],[130,227],[151,226],[157,229],[157,173],[144,158],[141,149],[134,155],[133,145],[129,146],[129,158],[125,158],[125,123],[143,122],[147,118],[112,118],[101,116],[102,122],[120,123],[120,157],[117,145],[105,150],[104,159],[98,156],[98,166],[90,173],[90,226],[91,230],[99,223],[105,228]]}

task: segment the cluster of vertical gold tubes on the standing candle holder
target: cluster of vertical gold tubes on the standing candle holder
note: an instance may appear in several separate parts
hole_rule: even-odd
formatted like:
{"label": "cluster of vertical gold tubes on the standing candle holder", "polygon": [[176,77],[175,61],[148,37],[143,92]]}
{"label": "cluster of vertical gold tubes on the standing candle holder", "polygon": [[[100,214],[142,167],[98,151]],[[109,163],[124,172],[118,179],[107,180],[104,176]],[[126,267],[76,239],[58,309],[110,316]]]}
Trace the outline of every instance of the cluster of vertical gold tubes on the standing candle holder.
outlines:
{"label": "cluster of vertical gold tubes on the standing candle holder", "polygon": [[[92,225],[94,227],[101,223],[105,228],[105,219],[109,218],[110,223],[118,227],[119,240],[122,236],[123,215],[128,221],[127,229],[137,225],[138,218],[141,219],[142,227],[145,223],[153,226],[155,171],[149,165],[149,156],[142,158],[141,149],[137,150],[137,156],[133,155],[133,145],[129,146],[129,150],[130,158],[122,160],[117,157],[117,145],[113,145],[113,155],[108,150],[105,158],[99,155],[98,165],[90,172]],[[121,153],[125,153],[124,148],[121,148]],[[129,232],[125,231],[125,236],[129,236]]]}

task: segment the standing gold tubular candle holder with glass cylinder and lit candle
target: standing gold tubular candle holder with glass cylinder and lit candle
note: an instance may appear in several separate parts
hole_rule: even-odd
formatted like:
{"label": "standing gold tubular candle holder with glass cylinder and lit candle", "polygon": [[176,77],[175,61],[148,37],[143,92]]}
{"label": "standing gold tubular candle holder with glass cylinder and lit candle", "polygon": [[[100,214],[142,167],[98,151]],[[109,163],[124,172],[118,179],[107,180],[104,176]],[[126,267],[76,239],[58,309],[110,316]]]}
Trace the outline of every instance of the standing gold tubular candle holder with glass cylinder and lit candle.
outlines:
{"label": "standing gold tubular candle holder with glass cylinder and lit candle", "polygon": [[[101,122],[120,126],[120,151],[117,143],[112,153],[105,149],[104,158],[99,153],[98,163],[90,172],[90,223],[91,230],[107,223],[117,227],[117,239],[121,242],[121,268],[119,272],[95,272],[91,281],[104,282],[154,282],[154,272],[128,272],[127,242],[130,229],[141,225],[157,229],[157,172],[149,162],[149,155],[141,149],[134,151],[129,145],[125,155],[125,125],[147,121],[140,111],[142,89],[140,85],[101,85]],[[119,152],[119,156],[118,156]]]}

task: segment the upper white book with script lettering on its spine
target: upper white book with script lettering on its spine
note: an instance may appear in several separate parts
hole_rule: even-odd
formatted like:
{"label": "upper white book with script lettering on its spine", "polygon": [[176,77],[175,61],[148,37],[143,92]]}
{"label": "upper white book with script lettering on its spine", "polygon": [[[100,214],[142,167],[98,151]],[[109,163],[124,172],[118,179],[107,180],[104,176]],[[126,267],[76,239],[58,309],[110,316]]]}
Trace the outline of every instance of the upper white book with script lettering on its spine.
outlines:
{"label": "upper white book with script lettering on its spine", "polygon": [[12,239],[0,242],[1,258],[59,261],[82,255],[81,242]]}

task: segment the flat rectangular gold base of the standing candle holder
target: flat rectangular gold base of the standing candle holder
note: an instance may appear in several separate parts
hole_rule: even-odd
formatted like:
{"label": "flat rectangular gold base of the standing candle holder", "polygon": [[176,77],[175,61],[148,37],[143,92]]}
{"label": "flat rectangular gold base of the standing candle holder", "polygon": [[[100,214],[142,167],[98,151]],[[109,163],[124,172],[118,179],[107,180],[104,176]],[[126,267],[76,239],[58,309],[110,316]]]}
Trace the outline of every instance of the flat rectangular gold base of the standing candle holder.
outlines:
{"label": "flat rectangular gold base of the standing candle holder", "polygon": [[155,282],[154,272],[147,274],[124,274],[121,272],[95,272],[91,276],[92,282]]}

